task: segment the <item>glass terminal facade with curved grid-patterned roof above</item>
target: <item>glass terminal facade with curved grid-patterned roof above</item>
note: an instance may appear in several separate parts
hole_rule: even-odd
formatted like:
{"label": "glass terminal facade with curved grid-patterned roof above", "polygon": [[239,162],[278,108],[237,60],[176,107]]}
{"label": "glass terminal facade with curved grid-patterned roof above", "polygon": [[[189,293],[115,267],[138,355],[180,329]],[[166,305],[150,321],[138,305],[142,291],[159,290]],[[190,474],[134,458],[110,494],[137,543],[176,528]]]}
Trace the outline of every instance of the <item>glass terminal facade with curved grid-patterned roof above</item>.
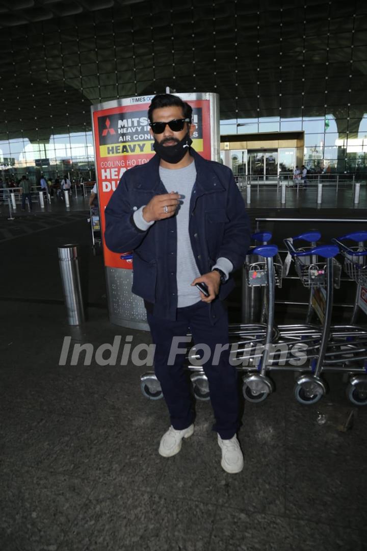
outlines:
{"label": "glass terminal facade with curved grid-patterned roof above", "polygon": [[[364,2],[18,4],[1,21],[3,179],[92,179],[90,105],[167,86],[220,94],[222,136],[301,132],[310,168],[367,171]],[[254,152],[251,170],[294,155]]]}

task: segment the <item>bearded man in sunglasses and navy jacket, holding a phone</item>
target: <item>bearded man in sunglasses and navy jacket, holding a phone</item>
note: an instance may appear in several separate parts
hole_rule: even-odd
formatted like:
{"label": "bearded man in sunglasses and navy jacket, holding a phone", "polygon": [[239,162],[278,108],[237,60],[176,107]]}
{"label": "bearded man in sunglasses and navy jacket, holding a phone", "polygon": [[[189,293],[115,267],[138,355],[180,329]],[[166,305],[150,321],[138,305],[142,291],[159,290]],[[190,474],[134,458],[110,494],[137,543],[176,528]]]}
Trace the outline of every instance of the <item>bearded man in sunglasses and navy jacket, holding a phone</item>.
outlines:
{"label": "bearded man in sunglasses and navy jacket, holding a phone", "polygon": [[[171,354],[188,330],[211,354],[202,368],[222,450],[221,465],[240,472],[237,440],[237,372],[229,365],[228,318],[221,300],[234,287],[229,273],[242,266],[249,246],[249,221],[233,174],[190,147],[192,109],[177,96],[160,94],[148,111],[156,155],[124,173],[106,208],[105,239],[116,252],[134,251],[133,293],[145,300],[156,344],[155,372],[171,427],[159,453],[171,457],[194,432],[194,412],[183,354]],[[196,287],[205,283],[209,296]],[[219,361],[212,361],[216,345]],[[227,347],[225,346],[227,344]],[[174,347],[173,347],[174,348]]]}

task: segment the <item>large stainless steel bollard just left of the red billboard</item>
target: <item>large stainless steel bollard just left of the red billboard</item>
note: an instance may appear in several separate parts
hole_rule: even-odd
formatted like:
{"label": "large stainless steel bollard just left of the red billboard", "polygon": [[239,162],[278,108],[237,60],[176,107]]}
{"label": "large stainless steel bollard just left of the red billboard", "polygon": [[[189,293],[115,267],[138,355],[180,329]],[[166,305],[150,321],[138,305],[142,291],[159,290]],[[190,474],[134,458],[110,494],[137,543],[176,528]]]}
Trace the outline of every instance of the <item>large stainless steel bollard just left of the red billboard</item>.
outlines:
{"label": "large stainless steel bollard just left of the red billboard", "polygon": [[80,286],[78,245],[63,245],[57,250],[68,323],[80,325],[85,321],[85,317]]}

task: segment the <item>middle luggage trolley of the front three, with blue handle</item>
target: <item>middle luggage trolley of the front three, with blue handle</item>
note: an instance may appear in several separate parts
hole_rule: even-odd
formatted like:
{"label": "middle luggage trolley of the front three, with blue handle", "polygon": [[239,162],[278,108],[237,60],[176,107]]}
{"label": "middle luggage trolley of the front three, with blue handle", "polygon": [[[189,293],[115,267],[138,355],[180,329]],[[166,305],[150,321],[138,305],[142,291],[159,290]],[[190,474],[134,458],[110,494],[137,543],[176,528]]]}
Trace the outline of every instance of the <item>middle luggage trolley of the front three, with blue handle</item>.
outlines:
{"label": "middle luggage trolley of the front three, with blue handle", "polygon": [[[317,304],[312,300],[315,294],[318,293],[319,297],[325,301],[325,308],[320,308],[317,312],[319,317],[324,318],[321,332],[319,329],[317,333],[317,329],[315,331],[314,327],[310,326],[312,334],[309,337],[311,342],[308,343],[307,355],[310,360],[311,373],[305,372],[298,376],[294,387],[295,398],[302,404],[316,403],[327,392],[327,386],[322,380],[321,374],[326,365],[325,356],[331,332],[333,289],[334,287],[339,288],[341,276],[341,265],[335,260],[335,256],[339,253],[336,245],[307,246],[298,250],[294,248],[294,241],[302,239],[305,239],[308,244],[311,242],[311,245],[314,245],[313,240],[311,241],[309,238],[310,236],[305,239],[303,234],[293,239],[284,239],[284,244],[294,260],[299,279],[304,287],[310,289],[308,318],[310,318],[311,307],[315,308]],[[322,310],[324,311],[322,312]],[[305,326],[289,326],[288,329],[286,326],[280,327],[281,336],[291,339],[299,337],[300,342],[306,341],[304,329],[306,329]]]}

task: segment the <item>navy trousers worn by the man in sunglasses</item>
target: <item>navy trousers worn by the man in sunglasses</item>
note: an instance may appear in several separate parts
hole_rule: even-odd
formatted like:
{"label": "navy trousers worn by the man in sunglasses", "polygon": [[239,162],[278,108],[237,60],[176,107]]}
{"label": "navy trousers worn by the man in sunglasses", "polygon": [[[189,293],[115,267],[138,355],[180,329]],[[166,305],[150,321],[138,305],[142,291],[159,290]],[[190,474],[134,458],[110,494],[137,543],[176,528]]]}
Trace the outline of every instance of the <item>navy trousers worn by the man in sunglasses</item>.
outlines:
{"label": "navy trousers worn by the man in sunglasses", "polygon": [[[195,344],[206,344],[211,351],[210,358],[202,365],[202,369],[209,382],[210,400],[216,420],[213,430],[222,439],[232,438],[238,430],[237,370],[229,364],[228,349],[222,351],[217,365],[212,365],[211,361],[216,345],[228,343],[227,312],[223,309],[223,315],[213,326],[209,319],[209,305],[200,301],[192,306],[178,308],[176,321],[163,320],[149,312],[147,321],[156,345],[155,374],[161,383],[173,428],[183,430],[194,420],[193,399],[183,368],[185,354],[176,354],[174,363],[167,365],[173,337],[185,337],[190,330]],[[187,345],[187,342],[182,341],[178,348],[186,348]]]}

